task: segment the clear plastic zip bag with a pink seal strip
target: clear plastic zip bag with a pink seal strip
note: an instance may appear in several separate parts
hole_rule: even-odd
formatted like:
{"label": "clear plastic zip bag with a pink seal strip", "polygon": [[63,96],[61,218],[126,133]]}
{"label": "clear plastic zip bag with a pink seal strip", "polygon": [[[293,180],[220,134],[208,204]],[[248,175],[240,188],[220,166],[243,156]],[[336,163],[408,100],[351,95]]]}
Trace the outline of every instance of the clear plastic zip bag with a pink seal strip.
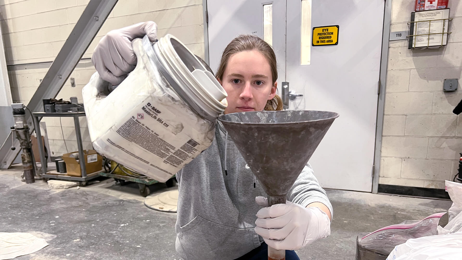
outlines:
{"label": "clear plastic zip bag with a pink seal strip", "polygon": [[439,219],[446,212],[435,213],[422,220],[406,220],[390,225],[364,236],[359,245],[378,254],[389,255],[395,246],[405,243],[408,239],[436,235]]}

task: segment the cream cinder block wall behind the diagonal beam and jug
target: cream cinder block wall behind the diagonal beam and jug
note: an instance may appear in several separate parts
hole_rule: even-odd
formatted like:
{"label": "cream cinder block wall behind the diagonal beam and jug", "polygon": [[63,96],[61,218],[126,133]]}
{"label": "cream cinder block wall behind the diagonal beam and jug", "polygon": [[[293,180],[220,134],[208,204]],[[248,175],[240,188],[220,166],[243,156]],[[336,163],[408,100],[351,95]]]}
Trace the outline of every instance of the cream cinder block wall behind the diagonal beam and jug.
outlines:
{"label": "cream cinder block wall behind the diagonal beam and jug", "polygon": [[[14,102],[28,104],[48,66],[14,64],[51,62],[61,50],[89,0],[0,0],[6,63]],[[77,97],[95,72],[91,60],[99,40],[109,31],[152,20],[158,24],[158,36],[170,33],[178,37],[198,56],[204,57],[202,0],[119,0],[97,37],[58,94],[58,99]],[[125,100],[121,100],[125,102]],[[77,150],[72,118],[44,118],[52,156]],[[84,149],[91,149],[85,118],[80,120]],[[62,124],[62,131],[61,131]],[[67,149],[64,143],[66,140]]]}

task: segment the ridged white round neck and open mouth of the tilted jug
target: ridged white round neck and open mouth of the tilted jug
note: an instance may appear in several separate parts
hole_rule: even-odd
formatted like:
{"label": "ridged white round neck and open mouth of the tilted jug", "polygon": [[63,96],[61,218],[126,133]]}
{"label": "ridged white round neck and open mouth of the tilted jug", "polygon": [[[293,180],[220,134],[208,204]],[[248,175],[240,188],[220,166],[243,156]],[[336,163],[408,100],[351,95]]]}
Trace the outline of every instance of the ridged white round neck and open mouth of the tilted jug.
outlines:
{"label": "ridged white round neck and open mouth of the tilted jug", "polygon": [[214,121],[225,111],[225,89],[176,37],[167,34],[153,44],[145,36],[143,47],[170,86],[201,117]]}

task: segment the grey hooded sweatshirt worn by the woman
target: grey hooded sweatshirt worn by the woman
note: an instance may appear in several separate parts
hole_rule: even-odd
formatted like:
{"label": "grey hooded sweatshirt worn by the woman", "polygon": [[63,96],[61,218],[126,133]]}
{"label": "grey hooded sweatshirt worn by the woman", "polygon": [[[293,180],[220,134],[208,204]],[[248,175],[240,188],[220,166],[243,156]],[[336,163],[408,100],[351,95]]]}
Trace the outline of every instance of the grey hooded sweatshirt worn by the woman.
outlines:
{"label": "grey hooded sweatshirt worn by the woman", "polygon": [[[261,209],[255,197],[266,194],[258,182],[254,188],[254,174],[226,136],[218,123],[210,147],[176,174],[176,251],[185,260],[233,260],[263,241],[254,231],[255,214]],[[287,200],[302,206],[321,202],[333,213],[310,164],[295,181]]]}

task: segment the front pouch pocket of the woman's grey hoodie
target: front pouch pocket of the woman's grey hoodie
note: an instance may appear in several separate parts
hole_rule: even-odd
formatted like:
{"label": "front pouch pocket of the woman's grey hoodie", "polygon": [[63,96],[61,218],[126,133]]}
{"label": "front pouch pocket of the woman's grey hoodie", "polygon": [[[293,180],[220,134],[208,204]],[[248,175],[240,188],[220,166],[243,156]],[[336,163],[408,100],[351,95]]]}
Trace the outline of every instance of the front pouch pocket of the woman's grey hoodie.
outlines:
{"label": "front pouch pocket of the woman's grey hoodie", "polygon": [[180,227],[179,247],[187,260],[233,260],[255,249],[254,229],[237,229],[196,216]]}

